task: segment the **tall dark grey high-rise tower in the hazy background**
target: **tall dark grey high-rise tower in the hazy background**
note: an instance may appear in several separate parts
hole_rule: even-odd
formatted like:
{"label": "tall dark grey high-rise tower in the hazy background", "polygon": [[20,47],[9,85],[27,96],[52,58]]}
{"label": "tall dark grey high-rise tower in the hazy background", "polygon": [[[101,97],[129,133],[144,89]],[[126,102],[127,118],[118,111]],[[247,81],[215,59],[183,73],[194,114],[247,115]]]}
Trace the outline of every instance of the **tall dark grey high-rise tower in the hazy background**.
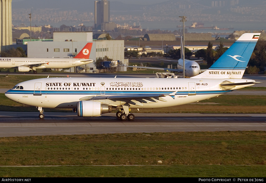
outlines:
{"label": "tall dark grey high-rise tower in the hazy background", "polygon": [[110,1],[94,1],[94,26],[101,30],[101,24],[110,22]]}

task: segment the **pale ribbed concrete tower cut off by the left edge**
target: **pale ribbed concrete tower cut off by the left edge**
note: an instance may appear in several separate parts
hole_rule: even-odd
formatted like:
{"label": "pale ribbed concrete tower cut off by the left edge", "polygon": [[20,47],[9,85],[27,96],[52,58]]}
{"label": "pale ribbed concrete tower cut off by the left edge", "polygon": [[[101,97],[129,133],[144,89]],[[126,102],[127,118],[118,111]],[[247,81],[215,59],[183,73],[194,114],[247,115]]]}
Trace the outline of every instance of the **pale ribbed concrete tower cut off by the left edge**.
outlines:
{"label": "pale ribbed concrete tower cut off by the left edge", "polygon": [[12,44],[11,1],[0,0],[0,49],[8,49]]}

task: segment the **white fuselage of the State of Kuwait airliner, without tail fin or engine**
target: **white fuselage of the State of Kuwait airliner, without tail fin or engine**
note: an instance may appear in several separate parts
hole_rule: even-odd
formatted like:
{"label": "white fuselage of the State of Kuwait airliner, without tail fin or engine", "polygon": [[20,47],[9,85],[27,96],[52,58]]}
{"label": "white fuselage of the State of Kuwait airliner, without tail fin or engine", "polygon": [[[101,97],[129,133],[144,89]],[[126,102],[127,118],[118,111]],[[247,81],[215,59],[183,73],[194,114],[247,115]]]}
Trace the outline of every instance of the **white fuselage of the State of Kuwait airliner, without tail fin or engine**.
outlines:
{"label": "white fuselage of the State of Kuwait airliner, without tail fin or engine", "polygon": [[[246,79],[202,78],[42,78],[24,81],[5,95],[15,102],[47,108],[76,108],[77,101],[95,95],[145,95],[161,94],[164,100],[130,104],[129,108],[148,109],[182,105],[201,101],[233,91],[223,90],[219,84],[228,82],[253,82]],[[244,88],[249,85],[242,85]],[[239,89],[236,86],[234,89]],[[120,106],[131,99],[94,100],[112,106]]]}

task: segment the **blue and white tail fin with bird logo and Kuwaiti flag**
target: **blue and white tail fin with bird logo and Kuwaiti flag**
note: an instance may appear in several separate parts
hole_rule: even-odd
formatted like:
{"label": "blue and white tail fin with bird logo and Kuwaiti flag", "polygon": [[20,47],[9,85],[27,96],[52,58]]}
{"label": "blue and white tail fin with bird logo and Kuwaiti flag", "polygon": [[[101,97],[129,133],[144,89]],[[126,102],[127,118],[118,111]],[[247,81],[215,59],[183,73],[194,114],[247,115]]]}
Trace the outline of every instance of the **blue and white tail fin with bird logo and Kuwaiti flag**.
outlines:
{"label": "blue and white tail fin with bird logo and Kuwaiti flag", "polygon": [[260,33],[244,33],[205,72],[193,78],[242,78]]}

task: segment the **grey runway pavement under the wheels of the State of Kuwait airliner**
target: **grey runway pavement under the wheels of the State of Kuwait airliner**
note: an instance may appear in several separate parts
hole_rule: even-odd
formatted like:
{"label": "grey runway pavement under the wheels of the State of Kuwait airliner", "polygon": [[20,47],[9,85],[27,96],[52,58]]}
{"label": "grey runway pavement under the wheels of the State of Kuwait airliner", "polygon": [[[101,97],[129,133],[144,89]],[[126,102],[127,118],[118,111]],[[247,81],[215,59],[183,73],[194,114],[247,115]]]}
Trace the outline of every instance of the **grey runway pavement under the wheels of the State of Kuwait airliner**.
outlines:
{"label": "grey runway pavement under the wheels of the State of Kuwait airliner", "polygon": [[122,121],[115,113],[78,117],[76,113],[1,112],[0,137],[188,131],[266,131],[265,114],[135,113]]}

